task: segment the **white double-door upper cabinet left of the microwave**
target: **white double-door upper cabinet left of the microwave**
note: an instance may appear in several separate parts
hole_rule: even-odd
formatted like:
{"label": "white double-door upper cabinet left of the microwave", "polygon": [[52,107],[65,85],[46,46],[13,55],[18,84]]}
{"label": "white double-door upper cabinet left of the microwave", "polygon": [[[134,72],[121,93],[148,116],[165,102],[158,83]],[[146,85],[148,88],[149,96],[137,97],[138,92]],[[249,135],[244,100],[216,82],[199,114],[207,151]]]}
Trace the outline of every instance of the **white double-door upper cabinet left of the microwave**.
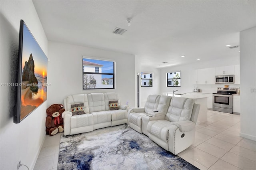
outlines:
{"label": "white double-door upper cabinet left of the microwave", "polygon": [[215,68],[197,69],[198,85],[214,85],[215,84]]}

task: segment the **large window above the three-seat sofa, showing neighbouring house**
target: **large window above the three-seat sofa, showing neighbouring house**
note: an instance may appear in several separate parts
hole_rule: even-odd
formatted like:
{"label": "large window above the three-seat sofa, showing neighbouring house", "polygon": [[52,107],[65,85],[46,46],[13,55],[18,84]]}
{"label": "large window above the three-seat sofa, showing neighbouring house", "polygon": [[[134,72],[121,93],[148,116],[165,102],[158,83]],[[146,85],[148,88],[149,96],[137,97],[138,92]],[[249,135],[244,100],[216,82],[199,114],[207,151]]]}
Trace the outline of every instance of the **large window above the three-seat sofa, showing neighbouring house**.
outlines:
{"label": "large window above the three-seat sofa, showing neighbouring house", "polygon": [[83,58],[83,89],[114,89],[115,62]]}

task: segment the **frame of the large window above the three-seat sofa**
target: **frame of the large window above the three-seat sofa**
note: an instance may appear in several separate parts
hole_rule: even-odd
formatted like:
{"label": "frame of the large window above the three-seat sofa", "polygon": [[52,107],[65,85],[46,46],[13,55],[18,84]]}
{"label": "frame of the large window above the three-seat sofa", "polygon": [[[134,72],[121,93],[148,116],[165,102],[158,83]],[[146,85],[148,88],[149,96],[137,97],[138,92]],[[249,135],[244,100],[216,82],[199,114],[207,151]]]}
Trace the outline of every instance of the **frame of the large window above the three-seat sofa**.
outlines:
{"label": "frame of the large window above the three-seat sofa", "polygon": [[[108,62],[112,62],[113,63],[113,73],[96,73],[96,72],[86,72],[84,71],[84,64],[83,64],[83,61],[84,59],[93,59],[93,60],[100,60],[100,61],[108,61]],[[115,89],[115,75],[116,75],[116,72],[115,72],[115,67],[116,67],[116,62],[113,61],[113,60],[108,60],[108,59],[99,59],[99,58],[90,58],[90,57],[86,57],[86,56],[83,56],[82,57],[82,89],[83,90],[99,90],[99,89]],[[99,67],[98,67],[99,68]],[[96,71],[96,67],[94,68],[94,71]],[[99,69],[100,71],[100,69]],[[110,88],[84,88],[84,74],[87,74],[87,75],[112,75],[113,77],[111,77],[113,79],[113,87],[110,87]],[[95,80],[96,81],[96,80]],[[110,81],[109,81],[110,82]],[[101,81],[102,83],[102,81]]]}

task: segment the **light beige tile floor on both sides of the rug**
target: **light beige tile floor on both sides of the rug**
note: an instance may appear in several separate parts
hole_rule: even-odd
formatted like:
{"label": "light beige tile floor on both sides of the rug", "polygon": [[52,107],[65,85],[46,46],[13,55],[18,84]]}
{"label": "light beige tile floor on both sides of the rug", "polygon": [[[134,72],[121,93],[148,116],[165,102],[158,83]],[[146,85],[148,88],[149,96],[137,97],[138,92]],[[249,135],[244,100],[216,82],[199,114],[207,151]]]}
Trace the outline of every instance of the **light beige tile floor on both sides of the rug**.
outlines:
{"label": "light beige tile floor on both sides of the rug", "polygon": [[[255,170],[256,141],[239,133],[240,115],[208,110],[196,140],[178,156],[201,170]],[[57,170],[60,134],[46,136],[34,170]]]}

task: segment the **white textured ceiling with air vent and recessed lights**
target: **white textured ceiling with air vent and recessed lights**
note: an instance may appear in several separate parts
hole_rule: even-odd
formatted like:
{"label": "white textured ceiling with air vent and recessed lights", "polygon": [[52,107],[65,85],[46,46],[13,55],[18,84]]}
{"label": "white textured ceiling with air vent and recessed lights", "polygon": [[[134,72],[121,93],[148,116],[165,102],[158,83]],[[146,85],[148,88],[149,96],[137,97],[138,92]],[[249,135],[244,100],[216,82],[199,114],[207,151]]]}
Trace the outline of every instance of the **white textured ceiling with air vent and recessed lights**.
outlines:
{"label": "white textured ceiling with air vent and recessed lights", "polygon": [[[239,45],[239,32],[256,26],[254,0],[33,3],[48,40],[134,54],[150,67],[238,57],[225,45]],[[116,27],[127,32],[112,34]]]}

